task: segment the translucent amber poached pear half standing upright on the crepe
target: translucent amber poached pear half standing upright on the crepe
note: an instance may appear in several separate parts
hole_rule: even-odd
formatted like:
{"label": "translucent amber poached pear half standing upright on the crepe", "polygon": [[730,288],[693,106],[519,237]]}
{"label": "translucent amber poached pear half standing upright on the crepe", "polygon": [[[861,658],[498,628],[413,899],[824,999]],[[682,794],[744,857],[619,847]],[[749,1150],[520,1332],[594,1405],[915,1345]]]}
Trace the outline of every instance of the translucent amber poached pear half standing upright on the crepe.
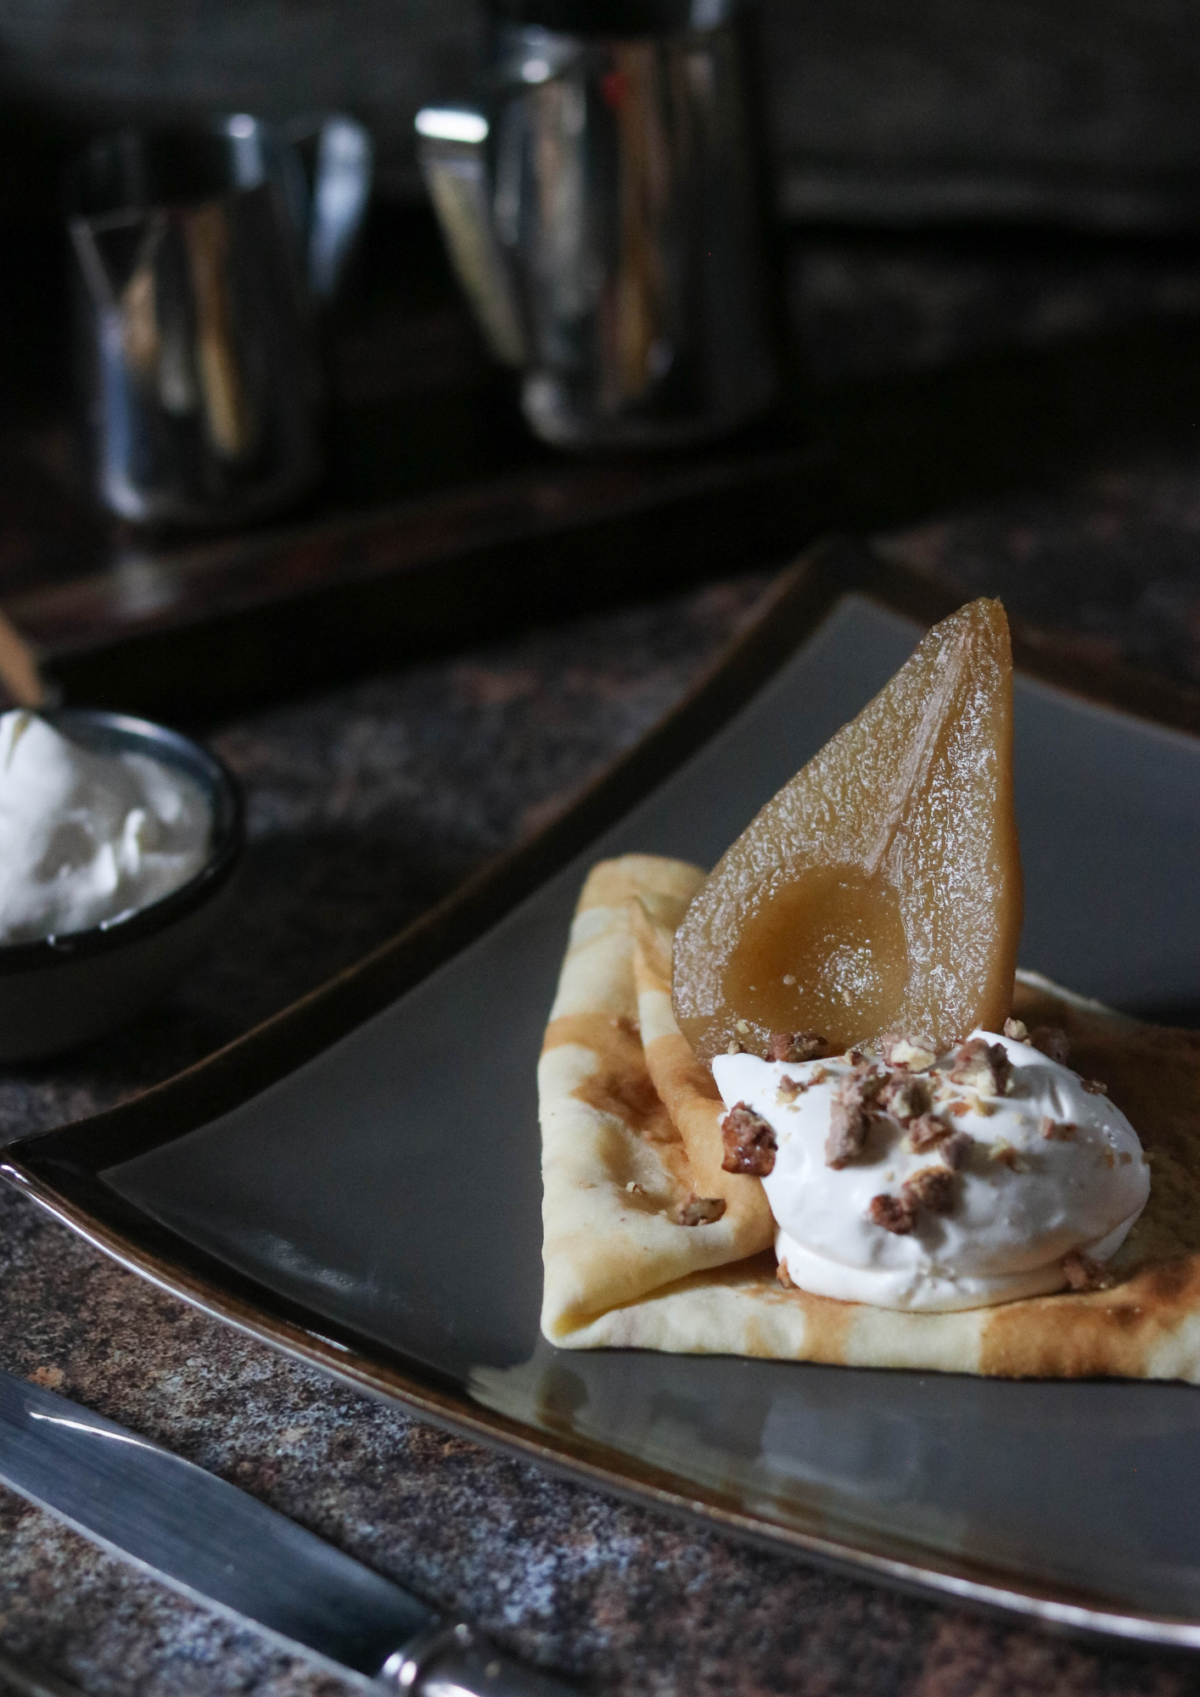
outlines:
{"label": "translucent amber poached pear half standing upright on the crepe", "polygon": [[833,1050],[889,1030],[937,1049],[1012,1006],[1022,874],[1012,645],[998,601],[942,619],[742,832],[676,935],[696,1054]]}

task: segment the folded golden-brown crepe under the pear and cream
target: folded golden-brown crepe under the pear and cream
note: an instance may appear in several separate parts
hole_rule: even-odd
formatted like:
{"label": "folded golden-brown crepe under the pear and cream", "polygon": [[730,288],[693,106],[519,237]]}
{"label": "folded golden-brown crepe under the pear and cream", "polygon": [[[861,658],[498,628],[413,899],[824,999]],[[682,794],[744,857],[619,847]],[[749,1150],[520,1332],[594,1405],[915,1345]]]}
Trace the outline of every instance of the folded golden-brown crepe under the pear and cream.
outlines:
{"label": "folded golden-brown crepe under the pear and cream", "polygon": [[[681,860],[625,855],[579,898],[538,1067],[550,1342],[1200,1383],[1200,1033],[1018,974],[1013,1013],[1066,1028],[1071,1066],[1107,1083],[1151,1162],[1113,1288],[959,1313],[784,1290],[762,1185],[721,1169],[725,1110],[670,1006],[670,942],[703,879]],[[725,1212],[679,1224],[693,1198]]]}

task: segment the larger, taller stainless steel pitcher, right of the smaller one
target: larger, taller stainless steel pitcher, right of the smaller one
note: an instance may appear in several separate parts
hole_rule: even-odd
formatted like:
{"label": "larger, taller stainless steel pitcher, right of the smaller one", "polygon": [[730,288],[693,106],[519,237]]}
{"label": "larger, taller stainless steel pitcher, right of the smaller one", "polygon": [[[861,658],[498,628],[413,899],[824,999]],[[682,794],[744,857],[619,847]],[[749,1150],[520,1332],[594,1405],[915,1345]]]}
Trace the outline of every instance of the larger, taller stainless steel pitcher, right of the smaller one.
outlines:
{"label": "larger, taller stainless steel pitcher, right of the smaller one", "polygon": [[735,5],[524,8],[496,24],[485,105],[418,114],[463,288],[557,446],[698,441],[776,394]]}

